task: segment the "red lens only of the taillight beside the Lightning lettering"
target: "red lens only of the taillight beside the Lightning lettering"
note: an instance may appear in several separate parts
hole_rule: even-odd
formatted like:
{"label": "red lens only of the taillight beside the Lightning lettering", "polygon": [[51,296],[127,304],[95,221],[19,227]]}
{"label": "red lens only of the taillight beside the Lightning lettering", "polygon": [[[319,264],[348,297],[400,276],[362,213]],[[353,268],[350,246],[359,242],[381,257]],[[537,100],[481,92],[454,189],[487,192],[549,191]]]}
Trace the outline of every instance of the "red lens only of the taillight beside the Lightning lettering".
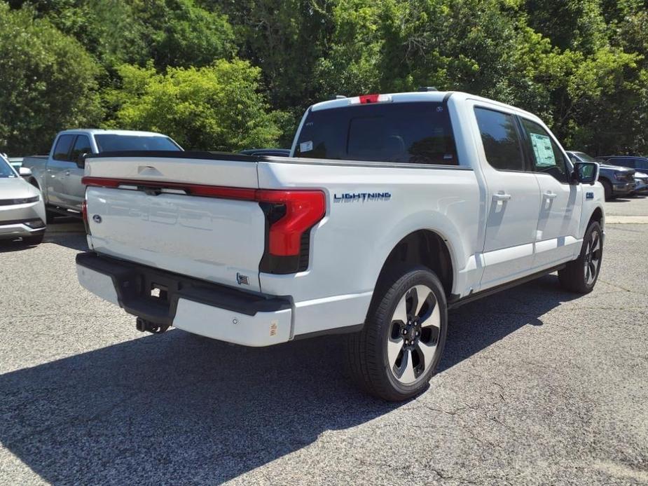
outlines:
{"label": "red lens only of the taillight beside the Lightning lettering", "polygon": [[298,256],[303,233],[326,214],[326,197],[320,190],[257,190],[256,200],[286,207],[268,232],[268,251],[275,256]]}

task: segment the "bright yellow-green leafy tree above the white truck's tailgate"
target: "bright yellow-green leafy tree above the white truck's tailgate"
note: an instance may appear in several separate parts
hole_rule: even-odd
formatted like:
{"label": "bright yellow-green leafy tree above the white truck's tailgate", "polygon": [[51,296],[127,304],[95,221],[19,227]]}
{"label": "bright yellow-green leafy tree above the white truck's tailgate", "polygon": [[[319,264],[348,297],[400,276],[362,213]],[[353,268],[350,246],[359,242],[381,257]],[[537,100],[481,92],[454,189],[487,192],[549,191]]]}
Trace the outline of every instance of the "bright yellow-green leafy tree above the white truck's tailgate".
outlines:
{"label": "bright yellow-green leafy tree above the white truck's tailgate", "polygon": [[216,61],[201,68],[169,68],[158,73],[124,65],[120,89],[109,90],[115,107],[106,127],[155,130],[186,149],[238,151],[273,146],[283,113],[269,111],[258,92],[261,70],[242,60]]}

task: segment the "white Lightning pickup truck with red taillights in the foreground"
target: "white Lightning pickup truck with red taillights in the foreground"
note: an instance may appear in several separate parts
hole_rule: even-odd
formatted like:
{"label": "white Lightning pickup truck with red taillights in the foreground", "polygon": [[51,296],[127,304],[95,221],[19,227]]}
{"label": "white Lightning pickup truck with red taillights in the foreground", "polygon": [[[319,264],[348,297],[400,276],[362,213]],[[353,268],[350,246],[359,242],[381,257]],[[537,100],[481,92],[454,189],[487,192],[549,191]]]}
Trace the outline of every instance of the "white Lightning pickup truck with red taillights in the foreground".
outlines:
{"label": "white Lightning pickup truck with red taillights in the foreground", "polygon": [[101,153],[79,282],[137,316],[248,346],[348,333],[352,375],[427,387],[449,309],[558,270],[598,277],[598,165],[539,118],[461,92],[311,106],[290,158]]}

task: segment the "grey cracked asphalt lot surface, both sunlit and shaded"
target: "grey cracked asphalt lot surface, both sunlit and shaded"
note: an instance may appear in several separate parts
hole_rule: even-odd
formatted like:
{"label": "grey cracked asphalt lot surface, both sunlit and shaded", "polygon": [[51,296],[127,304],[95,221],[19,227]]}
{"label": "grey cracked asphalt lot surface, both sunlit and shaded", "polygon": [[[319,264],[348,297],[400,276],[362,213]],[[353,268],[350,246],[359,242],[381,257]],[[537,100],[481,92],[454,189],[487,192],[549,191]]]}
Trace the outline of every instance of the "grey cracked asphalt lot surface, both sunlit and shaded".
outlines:
{"label": "grey cracked asphalt lot surface, both sunlit and shaded", "polygon": [[354,389],[340,338],[138,333],[56,227],[0,249],[2,485],[648,484],[648,224],[607,226],[588,296],[550,275],[453,312],[429,391],[397,405]]}

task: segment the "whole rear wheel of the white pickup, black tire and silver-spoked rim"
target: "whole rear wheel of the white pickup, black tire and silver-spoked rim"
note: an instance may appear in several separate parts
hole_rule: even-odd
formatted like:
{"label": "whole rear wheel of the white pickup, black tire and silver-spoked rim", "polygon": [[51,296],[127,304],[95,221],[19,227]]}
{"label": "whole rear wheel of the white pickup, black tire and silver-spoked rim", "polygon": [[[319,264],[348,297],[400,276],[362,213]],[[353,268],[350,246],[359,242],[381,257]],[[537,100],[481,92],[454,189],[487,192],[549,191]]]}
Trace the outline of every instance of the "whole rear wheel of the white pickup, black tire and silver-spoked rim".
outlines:
{"label": "whole rear wheel of the white pickup, black tire and silver-spoked rim", "polygon": [[439,365],[447,328],[446,294],[434,272],[394,272],[376,286],[362,331],[347,336],[353,380],[387,401],[420,394]]}

